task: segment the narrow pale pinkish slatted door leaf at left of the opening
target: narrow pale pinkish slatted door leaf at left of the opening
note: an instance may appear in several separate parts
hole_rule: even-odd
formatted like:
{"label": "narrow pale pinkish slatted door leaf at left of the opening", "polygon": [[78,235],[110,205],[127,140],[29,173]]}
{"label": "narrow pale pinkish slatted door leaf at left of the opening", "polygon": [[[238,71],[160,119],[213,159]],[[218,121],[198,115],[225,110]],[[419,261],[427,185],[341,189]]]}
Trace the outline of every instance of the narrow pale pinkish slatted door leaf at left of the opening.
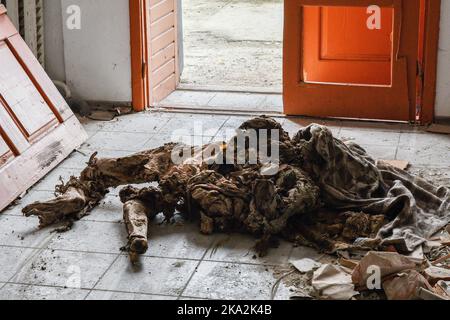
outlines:
{"label": "narrow pale pinkish slatted door leaf at left of the opening", "polygon": [[147,0],[148,86],[153,106],[179,83],[177,0]]}

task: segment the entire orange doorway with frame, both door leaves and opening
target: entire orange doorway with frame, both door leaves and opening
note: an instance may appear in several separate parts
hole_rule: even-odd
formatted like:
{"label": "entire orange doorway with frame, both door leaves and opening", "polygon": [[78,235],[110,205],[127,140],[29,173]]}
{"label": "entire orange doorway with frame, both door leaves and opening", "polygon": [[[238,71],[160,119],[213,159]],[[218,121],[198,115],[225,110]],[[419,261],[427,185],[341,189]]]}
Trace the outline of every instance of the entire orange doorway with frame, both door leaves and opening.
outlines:
{"label": "entire orange doorway with frame, both door leaves and opening", "polygon": [[[136,110],[432,121],[437,36],[428,31],[439,25],[436,2],[139,0],[130,6]],[[379,27],[368,28],[374,15]]]}

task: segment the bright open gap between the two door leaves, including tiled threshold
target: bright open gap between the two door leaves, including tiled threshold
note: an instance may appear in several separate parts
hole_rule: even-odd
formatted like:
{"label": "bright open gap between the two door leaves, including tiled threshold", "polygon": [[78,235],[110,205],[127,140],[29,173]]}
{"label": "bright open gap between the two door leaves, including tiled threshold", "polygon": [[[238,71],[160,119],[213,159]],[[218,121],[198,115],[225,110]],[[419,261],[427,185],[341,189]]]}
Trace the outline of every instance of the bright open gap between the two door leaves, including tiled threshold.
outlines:
{"label": "bright open gap between the two door leaves, including tiled threshold", "polygon": [[180,82],[157,106],[282,112],[283,0],[184,0],[178,11]]}

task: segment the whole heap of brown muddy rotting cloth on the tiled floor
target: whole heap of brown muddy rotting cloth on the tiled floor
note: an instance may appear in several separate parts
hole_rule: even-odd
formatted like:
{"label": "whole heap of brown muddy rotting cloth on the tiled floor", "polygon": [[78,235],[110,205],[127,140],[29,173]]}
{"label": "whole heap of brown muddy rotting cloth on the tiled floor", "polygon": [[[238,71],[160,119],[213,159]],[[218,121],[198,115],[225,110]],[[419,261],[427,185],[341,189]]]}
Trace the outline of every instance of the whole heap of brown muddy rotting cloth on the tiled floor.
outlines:
{"label": "whole heap of brown muddy rotting cloth on the tiled floor", "polygon": [[[237,141],[250,130],[257,132],[257,146],[279,149],[279,157],[264,162],[250,143],[240,153]],[[270,130],[279,134],[262,134]],[[124,158],[94,155],[80,177],[57,188],[59,197],[31,204],[23,212],[38,216],[41,226],[70,226],[108,189],[156,182],[155,187],[126,186],[120,192],[133,259],[147,251],[148,223],[159,213],[167,219],[174,214],[195,219],[207,234],[254,234],[262,253],[274,236],[307,241],[329,252],[392,245],[409,252],[450,222],[449,189],[387,164],[376,165],[361,147],[335,139],[320,125],[291,139],[275,120],[259,117],[245,122],[228,143],[192,147],[192,156],[175,163],[173,155],[180,150],[186,147],[167,144]]]}

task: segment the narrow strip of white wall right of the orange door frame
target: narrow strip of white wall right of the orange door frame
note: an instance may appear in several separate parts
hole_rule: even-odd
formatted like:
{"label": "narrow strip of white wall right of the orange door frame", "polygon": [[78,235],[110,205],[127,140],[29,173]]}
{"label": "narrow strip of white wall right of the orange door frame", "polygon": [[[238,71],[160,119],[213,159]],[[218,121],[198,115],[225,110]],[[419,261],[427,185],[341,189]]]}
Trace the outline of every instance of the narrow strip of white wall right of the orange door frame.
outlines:
{"label": "narrow strip of white wall right of the orange door frame", "polygon": [[443,0],[439,39],[436,116],[450,117],[450,1]]}

